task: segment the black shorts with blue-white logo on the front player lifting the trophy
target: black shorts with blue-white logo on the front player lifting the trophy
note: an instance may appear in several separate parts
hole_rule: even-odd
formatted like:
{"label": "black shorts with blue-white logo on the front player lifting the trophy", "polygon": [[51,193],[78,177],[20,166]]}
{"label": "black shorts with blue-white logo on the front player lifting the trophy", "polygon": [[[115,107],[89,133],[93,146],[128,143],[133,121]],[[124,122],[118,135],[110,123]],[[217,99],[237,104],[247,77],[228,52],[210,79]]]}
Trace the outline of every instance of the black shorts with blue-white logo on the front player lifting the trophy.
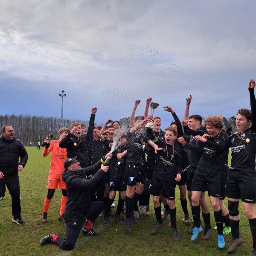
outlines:
{"label": "black shorts with blue-white logo on the front player lifting the trophy", "polygon": [[145,184],[147,178],[145,164],[126,163],[127,186],[135,186],[136,183]]}

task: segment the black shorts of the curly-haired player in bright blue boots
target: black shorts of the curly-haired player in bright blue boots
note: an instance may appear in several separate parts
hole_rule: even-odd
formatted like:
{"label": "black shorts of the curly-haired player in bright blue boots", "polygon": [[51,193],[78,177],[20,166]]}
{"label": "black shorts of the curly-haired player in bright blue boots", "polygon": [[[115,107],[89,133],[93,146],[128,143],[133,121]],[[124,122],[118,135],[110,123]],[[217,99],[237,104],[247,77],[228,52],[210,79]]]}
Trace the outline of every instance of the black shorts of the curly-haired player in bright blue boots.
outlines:
{"label": "black shorts of the curly-haired player in bright blue boots", "polygon": [[192,191],[205,192],[208,190],[208,194],[212,197],[219,198],[221,192],[221,174],[198,174],[195,175],[192,180]]}

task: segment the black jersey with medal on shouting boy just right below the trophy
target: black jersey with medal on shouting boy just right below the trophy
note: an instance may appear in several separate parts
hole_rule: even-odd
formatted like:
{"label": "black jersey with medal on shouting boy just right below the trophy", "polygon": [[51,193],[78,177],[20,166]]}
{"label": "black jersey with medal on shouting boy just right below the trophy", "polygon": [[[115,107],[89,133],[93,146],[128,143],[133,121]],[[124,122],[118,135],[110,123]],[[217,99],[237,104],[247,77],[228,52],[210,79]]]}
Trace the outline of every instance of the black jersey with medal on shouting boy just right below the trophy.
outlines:
{"label": "black jersey with medal on shouting boy just right below the trophy", "polygon": [[180,173],[181,148],[177,140],[173,145],[167,145],[165,140],[158,140],[158,147],[163,148],[157,152],[157,164],[154,175],[160,180],[173,180]]}

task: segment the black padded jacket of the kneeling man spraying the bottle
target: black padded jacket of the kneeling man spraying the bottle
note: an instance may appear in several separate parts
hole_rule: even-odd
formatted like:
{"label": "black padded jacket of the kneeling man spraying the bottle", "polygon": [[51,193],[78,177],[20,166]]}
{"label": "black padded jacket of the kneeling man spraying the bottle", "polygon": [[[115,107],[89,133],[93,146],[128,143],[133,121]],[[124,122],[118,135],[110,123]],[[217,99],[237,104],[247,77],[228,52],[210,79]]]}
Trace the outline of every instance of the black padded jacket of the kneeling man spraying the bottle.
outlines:
{"label": "black padded jacket of the kneeling man spraying the bottle", "polygon": [[[63,172],[62,179],[65,181],[67,188],[65,217],[78,217],[87,212],[90,206],[90,188],[96,186],[105,173],[102,169],[99,169],[100,166],[101,161],[81,169],[81,172]],[[96,172],[97,170],[98,172]],[[95,175],[92,178],[87,178],[87,176],[94,173]]]}

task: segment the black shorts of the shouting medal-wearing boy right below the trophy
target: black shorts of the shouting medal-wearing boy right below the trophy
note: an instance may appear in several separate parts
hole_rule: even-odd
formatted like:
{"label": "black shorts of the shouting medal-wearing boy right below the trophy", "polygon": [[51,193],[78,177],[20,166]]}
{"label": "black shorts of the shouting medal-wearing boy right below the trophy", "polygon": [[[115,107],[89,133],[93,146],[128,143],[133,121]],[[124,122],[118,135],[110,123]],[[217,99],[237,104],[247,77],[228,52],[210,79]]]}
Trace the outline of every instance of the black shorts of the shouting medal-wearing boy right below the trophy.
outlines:
{"label": "black shorts of the shouting medal-wearing boy right below the trophy", "polygon": [[162,194],[168,200],[175,200],[175,186],[175,179],[160,180],[153,175],[149,186],[149,193],[153,196],[160,196]]}

